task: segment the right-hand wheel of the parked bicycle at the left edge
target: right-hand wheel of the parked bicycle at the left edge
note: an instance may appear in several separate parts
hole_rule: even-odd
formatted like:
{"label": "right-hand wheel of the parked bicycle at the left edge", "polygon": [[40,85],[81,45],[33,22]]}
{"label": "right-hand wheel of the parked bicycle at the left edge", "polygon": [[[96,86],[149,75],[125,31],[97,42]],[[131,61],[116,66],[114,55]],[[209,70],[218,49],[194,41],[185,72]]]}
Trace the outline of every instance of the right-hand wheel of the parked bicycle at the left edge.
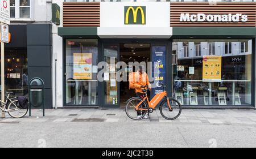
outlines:
{"label": "right-hand wheel of the parked bicycle at the left edge", "polygon": [[27,114],[27,109],[20,109],[19,108],[19,101],[13,100],[7,106],[8,114],[13,118],[22,118]]}

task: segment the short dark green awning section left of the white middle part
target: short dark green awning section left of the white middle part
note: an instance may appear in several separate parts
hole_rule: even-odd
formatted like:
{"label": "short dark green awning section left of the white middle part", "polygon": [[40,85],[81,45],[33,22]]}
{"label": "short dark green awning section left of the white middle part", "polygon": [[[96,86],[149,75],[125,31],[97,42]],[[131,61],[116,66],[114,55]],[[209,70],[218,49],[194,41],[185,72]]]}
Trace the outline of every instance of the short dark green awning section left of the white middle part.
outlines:
{"label": "short dark green awning section left of the white middle part", "polygon": [[98,38],[97,27],[61,27],[58,35],[64,38]]}

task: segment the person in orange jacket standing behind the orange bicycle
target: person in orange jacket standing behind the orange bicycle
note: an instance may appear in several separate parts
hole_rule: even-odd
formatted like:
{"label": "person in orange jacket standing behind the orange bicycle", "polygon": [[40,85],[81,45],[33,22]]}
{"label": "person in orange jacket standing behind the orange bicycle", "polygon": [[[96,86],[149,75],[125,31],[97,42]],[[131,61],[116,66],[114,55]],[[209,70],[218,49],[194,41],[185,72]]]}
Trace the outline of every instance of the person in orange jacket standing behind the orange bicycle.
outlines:
{"label": "person in orange jacket standing behind the orange bicycle", "polygon": [[[142,69],[142,66],[139,66],[139,69],[134,74],[135,81],[133,82],[133,86],[135,87],[135,93],[137,97],[144,98],[144,93],[142,89],[150,89],[151,91],[151,84],[148,81],[147,73]],[[141,111],[137,111],[137,117],[140,118],[142,115]],[[147,115],[144,116],[144,119],[147,119]]]}

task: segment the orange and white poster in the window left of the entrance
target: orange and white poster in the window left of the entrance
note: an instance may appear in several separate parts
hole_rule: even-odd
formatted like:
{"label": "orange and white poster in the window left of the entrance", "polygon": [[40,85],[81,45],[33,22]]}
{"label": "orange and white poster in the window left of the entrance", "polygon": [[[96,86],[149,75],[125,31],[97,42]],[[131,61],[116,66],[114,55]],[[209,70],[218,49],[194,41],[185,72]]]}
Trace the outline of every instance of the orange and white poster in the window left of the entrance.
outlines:
{"label": "orange and white poster in the window left of the entrance", "polygon": [[73,62],[74,79],[92,79],[92,53],[73,53]]}

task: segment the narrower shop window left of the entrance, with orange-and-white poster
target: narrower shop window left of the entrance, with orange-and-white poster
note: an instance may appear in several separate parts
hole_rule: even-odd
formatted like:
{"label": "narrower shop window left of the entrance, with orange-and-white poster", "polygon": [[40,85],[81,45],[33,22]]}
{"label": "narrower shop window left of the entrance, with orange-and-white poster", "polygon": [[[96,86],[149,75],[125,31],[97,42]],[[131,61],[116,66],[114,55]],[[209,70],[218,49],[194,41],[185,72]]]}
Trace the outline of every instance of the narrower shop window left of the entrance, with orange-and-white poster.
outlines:
{"label": "narrower shop window left of the entrance, with orange-and-white poster", "polygon": [[67,105],[97,105],[97,40],[66,41]]}

